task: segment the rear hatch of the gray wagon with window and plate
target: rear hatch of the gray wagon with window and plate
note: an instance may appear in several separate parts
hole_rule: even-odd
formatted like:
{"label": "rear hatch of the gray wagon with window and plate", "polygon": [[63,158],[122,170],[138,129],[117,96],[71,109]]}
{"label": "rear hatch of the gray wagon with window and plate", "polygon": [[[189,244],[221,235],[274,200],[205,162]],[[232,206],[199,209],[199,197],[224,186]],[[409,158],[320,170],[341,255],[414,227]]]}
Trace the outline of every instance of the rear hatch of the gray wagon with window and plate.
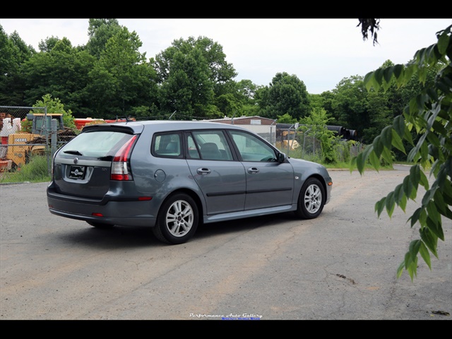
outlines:
{"label": "rear hatch of the gray wagon with window and plate", "polygon": [[101,200],[117,182],[133,177],[129,157],[138,135],[119,124],[85,127],[54,157],[54,191]]}

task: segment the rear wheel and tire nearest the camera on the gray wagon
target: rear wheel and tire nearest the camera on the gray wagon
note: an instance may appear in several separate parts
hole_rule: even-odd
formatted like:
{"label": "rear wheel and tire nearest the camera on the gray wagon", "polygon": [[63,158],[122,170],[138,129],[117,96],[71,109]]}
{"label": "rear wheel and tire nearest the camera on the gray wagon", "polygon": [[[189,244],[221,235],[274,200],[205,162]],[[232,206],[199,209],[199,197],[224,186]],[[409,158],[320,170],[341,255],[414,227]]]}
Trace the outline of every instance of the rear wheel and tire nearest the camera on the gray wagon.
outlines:
{"label": "rear wheel and tire nearest the camera on the gray wagon", "polygon": [[198,220],[194,199],[187,194],[174,194],[162,204],[153,233],[161,242],[183,244],[195,234]]}

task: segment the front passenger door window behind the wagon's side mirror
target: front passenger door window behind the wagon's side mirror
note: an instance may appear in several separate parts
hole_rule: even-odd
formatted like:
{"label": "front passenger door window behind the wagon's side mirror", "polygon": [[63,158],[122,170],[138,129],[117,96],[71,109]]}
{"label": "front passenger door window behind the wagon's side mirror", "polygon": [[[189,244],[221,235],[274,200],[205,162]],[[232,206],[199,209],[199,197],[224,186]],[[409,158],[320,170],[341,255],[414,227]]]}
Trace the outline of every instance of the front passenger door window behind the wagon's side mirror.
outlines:
{"label": "front passenger door window behind the wagon's side mirror", "polygon": [[275,150],[256,136],[241,131],[230,131],[230,134],[243,161],[276,161]]}

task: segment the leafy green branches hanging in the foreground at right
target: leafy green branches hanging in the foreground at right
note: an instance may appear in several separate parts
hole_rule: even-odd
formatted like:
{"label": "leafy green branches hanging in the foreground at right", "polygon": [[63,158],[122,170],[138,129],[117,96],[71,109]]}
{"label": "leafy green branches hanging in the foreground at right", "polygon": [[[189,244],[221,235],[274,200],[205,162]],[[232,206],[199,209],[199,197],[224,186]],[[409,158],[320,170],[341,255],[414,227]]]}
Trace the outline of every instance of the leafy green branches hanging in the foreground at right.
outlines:
{"label": "leafy green branches hanging in the foreground at right", "polygon": [[[363,19],[360,19],[363,20]],[[374,19],[378,20],[378,19]],[[397,271],[398,277],[406,270],[413,280],[417,275],[417,261],[420,255],[430,269],[432,253],[436,258],[438,239],[444,241],[442,220],[452,220],[452,25],[436,32],[438,41],[415,53],[414,59],[405,65],[393,65],[367,73],[364,83],[367,90],[388,90],[394,79],[400,88],[406,85],[412,76],[416,76],[422,90],[410,100],[403,114],[393,119],[393,124],[386,126],[373,143],[352,159],[351,165],[357,166],[362,174],[367,161],[379,168],[383,157],[392,163],[391,149],[396,148],[405,153],[403,140],[411,143],[413,148],[407,159],[414,162],[410,174],[398,184],[394,191],[381,198],[375,204],[375,210],[381,215],[384,209],[391,217],[395,206],[405,211],[407,201],[415,200],[420,186],[424,187],[420,207],[415,210],[408,221],[411,227],[419,227],[420,239],[410,243],[408,252]],[[439,67],[433,81],[427,81],[429,69]],[[419,136],[416,143],[411,132]],[[424,170],[430,170],[434,177],[429,185]]]}

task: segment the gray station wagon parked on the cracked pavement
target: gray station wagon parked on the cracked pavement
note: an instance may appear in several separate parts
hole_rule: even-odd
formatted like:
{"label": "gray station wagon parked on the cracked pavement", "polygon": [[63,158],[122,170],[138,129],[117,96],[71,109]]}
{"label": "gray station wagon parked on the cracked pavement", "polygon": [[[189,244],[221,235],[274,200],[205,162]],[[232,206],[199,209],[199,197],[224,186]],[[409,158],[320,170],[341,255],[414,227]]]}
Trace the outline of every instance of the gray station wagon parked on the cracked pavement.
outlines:
{"label": "gray station wagon parked on the cracked pavement", "polygon": [[148,226],[168,244],[198,224],[294,211],[331,198],[322,165],[287,157],[256,133],[205,121],[85,126],[54,155],[49,211],[94,227]]}

